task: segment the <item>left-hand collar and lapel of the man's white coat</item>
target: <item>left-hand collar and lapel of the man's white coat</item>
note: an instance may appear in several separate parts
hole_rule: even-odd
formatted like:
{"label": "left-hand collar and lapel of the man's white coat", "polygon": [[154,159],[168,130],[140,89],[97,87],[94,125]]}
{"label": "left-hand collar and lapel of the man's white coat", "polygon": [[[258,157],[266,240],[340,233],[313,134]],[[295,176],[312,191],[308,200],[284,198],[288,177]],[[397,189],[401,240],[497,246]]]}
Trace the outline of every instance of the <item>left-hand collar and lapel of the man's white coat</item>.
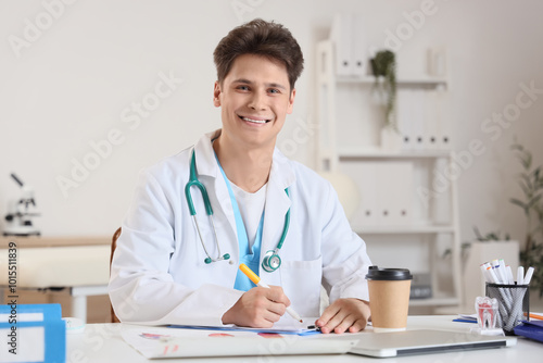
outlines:
{"label": "left-hand collar and lapel of the man's white coat", "polygon": [[213,208],[213,221],[217,230],[222,253],[229,253],[239,261],[236,218],[228,188],[215,159],[211,140],[220,135],[220,129],[203,136],[195,145],[197,170],[200,180],[206,186]]}

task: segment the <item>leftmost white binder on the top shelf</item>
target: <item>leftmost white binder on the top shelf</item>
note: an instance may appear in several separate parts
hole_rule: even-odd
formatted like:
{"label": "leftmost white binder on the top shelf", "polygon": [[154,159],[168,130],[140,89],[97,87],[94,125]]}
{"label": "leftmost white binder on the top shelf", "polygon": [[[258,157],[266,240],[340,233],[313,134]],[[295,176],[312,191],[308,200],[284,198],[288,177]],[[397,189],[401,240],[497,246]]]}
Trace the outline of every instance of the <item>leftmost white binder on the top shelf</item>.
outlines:
{"label": "leftmost white binder on the top shelf", "polygon": [[330,39],[336,48],[334,63],[338,76],[354,74],[353,16],[350,13],[337,13],[333,16]]}

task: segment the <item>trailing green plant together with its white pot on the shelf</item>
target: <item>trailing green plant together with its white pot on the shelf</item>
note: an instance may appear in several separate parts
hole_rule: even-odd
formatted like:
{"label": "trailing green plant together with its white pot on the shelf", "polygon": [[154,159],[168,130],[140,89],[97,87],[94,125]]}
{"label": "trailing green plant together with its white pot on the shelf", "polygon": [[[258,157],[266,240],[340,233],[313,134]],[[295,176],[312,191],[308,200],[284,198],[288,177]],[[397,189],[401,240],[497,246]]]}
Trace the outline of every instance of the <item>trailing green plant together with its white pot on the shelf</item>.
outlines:
{"label": "trailing green plant together with its white pot on the shelf", "polygon": [[387,150],[399,151],[402,137],[395,120],[396,104],[396,60],[390,50],[381,50],[370,60],[371,72],[375,76],[374,96],[384,112],[384,123],[381,129],[381,147]]}

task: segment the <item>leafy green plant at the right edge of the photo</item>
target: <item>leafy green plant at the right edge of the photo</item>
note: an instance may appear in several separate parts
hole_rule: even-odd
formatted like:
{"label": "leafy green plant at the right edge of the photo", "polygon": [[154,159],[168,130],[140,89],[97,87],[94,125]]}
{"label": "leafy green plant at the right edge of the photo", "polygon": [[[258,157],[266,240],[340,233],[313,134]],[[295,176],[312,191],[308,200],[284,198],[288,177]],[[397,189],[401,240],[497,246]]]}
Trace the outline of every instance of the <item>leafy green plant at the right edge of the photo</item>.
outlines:
{"label": "leafy green plant at the right edge of the photo", "polygon": [[526,267],[535,267],[530,286],[539,290],[541,298],[543,296],[543,165],[533,166],[531,152],[521,145],[515,143],[512,149],[522,165],[522,172],[518,175],[522,199],[510,199],[513,204],[522,209],[527,222],[520,262]]}

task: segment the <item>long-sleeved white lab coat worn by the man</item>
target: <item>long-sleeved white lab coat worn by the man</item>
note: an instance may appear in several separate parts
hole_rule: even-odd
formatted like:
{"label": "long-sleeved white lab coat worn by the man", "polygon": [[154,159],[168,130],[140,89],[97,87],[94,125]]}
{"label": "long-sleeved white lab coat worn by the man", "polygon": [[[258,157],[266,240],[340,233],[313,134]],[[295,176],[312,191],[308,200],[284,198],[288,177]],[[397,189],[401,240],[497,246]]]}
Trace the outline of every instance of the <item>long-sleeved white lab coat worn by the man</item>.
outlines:
{"label": "long-sleeved white lab coat worn by the man", "polygon": [[[122,322],[222,325],[223,314],[243,293],[233,289],[239,264],[238,238],[230,197],[205,135],[195,145],[198,176],[206,186],[222,254],[229,261],[205,264],[185,185],[192,148],[141,174],[136,198],[122,225],[110,279],[110,298]],[[289,188],[290,198],[285,192]],[[212,258],[217,249],[202,197],[192,199]],[[279,252],[282,264],[262,280],[281,286],[302,316],[318,316],[320,286],[330,301],[368,299],[365,275],[371,264],[365,242],[352,231],[331,185],[315,172],[288,160],[277,149],[269,174],[261,263],[275,249],[290,208],[290,228]]]}

